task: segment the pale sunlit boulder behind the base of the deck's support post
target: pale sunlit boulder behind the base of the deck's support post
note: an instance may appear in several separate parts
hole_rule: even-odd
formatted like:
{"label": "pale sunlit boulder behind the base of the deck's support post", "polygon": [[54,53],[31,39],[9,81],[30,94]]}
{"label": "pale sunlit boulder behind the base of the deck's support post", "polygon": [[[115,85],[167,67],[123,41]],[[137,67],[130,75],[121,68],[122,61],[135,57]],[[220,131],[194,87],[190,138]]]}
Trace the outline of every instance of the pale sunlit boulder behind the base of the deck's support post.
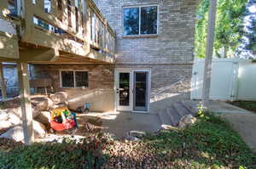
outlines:
{"label": "pale sunlit boulder behind the base of the deck's support post", "polygon": [[[33,130],[36,138],[44,138],[46,132],[45,127],[38,121],[33,121]],[[24,141],[24,133],[21,125],[10,128],[7,132],[0,135],[0,138],[13,139],[16,142]]]}

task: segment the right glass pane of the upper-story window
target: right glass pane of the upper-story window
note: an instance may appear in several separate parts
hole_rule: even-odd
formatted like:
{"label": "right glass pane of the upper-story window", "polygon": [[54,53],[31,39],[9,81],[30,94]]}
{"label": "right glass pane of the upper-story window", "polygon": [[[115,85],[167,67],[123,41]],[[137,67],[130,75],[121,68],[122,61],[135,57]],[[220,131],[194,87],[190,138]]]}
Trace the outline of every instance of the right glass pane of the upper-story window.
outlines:
{"label": "right glass pane of the upper-story window", "polygon": [[157,7],[141,8],[141,34],[157,33]]}

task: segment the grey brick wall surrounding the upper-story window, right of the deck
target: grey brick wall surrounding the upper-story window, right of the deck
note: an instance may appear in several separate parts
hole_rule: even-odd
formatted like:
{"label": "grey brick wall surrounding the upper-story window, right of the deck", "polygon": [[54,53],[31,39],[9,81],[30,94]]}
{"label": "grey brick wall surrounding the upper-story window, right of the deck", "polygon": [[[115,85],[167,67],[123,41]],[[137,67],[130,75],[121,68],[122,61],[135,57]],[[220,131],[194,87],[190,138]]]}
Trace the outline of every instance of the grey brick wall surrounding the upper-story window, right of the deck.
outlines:
{"label": "grey brick wall surrounding the upper-story window, right of the deck", "polygon": [[[190,88],[198,0],[94,0],[116,31],[116,67],[150,68],[152,92],[183,77]],[[159,6],[157,37],[123,37],[122,8]],[[174,89],[176,92],[177,89]],[[189,96],[189,95],[188,95]]]}

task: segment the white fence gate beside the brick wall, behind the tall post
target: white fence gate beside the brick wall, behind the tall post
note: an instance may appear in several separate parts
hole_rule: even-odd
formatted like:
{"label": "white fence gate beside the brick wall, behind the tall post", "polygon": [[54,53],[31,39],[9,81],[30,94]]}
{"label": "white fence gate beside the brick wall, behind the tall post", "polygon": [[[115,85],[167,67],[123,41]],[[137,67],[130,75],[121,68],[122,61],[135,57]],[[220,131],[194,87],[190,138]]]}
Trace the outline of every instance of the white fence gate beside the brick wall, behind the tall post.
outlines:
{"label": "white fence gate beside the brick wall, behind the tall post", "polygon": [[[205,59],[195,59],[191,99],[202,98]],[[236,97],[238,65],[232,59],[213,59],[210,99],[233,100]]]}

